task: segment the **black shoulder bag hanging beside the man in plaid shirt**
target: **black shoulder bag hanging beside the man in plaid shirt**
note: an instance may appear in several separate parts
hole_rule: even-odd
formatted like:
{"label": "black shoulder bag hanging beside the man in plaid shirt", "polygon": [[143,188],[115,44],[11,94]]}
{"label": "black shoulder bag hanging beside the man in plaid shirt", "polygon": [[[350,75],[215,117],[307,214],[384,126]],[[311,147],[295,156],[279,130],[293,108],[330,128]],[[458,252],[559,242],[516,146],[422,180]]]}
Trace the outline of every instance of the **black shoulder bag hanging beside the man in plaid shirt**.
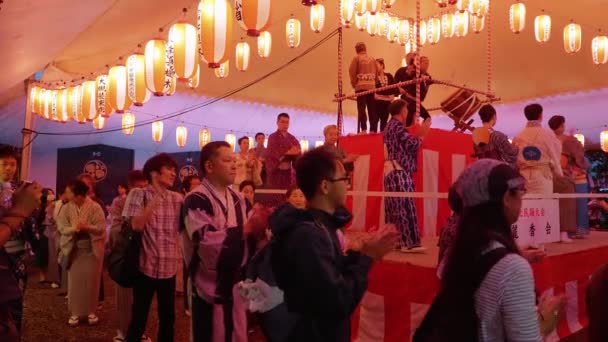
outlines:
{"label": "black shoulder bag hanging beside the man in plaid shirt", "polygon": [[[144,194],[144,209],[146,195]],[[110,278],[118,285],[131,288],[139,277],[139,251],[142,245],[142,233],[136,232],[131,226],[131,220],[124,220],[120,233],[106,255],[106,266]]]}

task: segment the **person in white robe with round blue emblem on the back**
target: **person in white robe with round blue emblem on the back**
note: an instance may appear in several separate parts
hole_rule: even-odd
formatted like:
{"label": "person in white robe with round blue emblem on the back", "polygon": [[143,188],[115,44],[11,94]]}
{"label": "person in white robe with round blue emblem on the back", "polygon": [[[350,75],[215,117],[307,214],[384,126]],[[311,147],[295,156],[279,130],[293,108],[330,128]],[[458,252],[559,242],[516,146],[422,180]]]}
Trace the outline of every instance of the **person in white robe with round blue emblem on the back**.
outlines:
{"label": "person in white robe with round blue emblem on the back", "polygon": [[513,139],[519,147],[517,166],[528,181],[531,194],[552,194],[553,175],[563,176],[560,165],[562,144],[555,133],[542,127],[543,107],[537,103],[524,108],[528,124]]}

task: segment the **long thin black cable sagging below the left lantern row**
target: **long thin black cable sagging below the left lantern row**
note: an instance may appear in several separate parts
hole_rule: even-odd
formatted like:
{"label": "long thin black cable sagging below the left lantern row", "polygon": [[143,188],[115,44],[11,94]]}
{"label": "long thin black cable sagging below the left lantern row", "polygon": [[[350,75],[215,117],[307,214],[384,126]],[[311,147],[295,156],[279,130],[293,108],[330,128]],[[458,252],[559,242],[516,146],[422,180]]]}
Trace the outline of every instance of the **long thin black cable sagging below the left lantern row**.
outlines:
{"label": "long thin black cable sagging below the left lantern row", "polygon": [[[152,124],[154,121],[158,121],[158,120],[166,120],[166,119],[172,119],[184,114],[187,114],[189,112],[195,111],[197,109],[206,107],[206,106],[210,106],[216,102],[219,102],[223,99],[226,99],[234,94],[237,94],[245,89],[248,89],[256,84],[258,84],[259,82],[267,79],[268,77],[282,71],[283,69],[289,67],[290,65],[296,63],[297,61],[299,61],[302,57],[308,55],[309,53],[311,53],[312,51],[314,51],[315,49],[317,49],[319,46],[323,45],[324,43],[326,43],[327,41],[331,40],[334,36],[339,34],[339,29],[336,28],[335,30],[331,31],[328,35],[326,35],[324,38],[322,38],[321,40],[319,40],[317,43],[315,43],[314,45],[312,45],[311,47],[309,47],[308,49],[304,50],[302,53],[300,53],[299,55],[295,56],[294,58],[292,58],[291,60],[287,61],[286,63],[284,63],[283,65],[271,70],[270,72],[262,75],[261,77],[246,83],[234,90],[228,91],[227,93],[219,96],[219,97],[214,97],[211,98],[205,102],[193,105],[191,107],[188,108],[184,108],[175,112],[171,112],[162,116],[159,116],[158,119],[151,119],[151,120],[146,120],[140,123],[137,123],[135,125],[133,125],[133,127],[140,127],[140,126],[146,126],[146,125],[150,125]],[[25,129],[24,129],[25,130]],[[60,132],[37,132],[37,131],[33,131],[33,130],[26,130],[28,132],[32,132],[32,133],[37,133],[40,135],[53,135],[53,136],[72,136],[72,135],[90,135],[90,134],[104,134],[104,133],[112,133],[112,132],[120,132],[122,131],[122,127],[117,127],[117,128],[112,128],[112,129],[107,129],[107,130],[95,130],[95,131],[79,131],[79,132],[71,132],[71,133],[60,133]]]}

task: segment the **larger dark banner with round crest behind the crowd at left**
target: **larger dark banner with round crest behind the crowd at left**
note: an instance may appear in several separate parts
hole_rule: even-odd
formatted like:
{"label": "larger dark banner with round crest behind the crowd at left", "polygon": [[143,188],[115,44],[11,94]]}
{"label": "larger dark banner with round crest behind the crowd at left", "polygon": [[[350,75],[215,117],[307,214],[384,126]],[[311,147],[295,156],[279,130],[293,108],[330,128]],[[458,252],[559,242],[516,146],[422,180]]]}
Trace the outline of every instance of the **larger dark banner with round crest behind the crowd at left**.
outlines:
{"label": "larger dark banner with round crest behind the crowd at left", "polygon": [[109,205],[118,195],[118,184],[127,183],[127,173],[133,169],[135,152],[131,149],[89,145],[57,150],[57,191],[82,173],[93,177],[97,195]]}

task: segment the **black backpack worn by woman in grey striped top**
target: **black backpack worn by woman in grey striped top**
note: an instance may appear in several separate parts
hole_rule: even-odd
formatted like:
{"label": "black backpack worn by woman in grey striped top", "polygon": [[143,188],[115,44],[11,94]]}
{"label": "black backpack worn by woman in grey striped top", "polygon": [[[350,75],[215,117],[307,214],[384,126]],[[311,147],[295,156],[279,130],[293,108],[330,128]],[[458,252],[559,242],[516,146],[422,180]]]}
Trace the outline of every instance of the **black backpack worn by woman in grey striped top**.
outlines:
{"label": "black backpack worn by woman in grey striped top", "polygon": [[[458,301],[458,304],[461,304],[458,305],[460,307],[454,307],[454,302],[448,302],[448,298],[444,296],[442,291],[439,291],[420,327],[416,330],[412,341],[478,341],[479,324],[475,311],[474,293],[492,267],[508,254],[510,252],[502,247],[481,256],[476,265],[475,290],[470,297],[465,296]],[[458,318],[455,319],[455,317]],[[463,322],[465,323],[463,324]]]}

